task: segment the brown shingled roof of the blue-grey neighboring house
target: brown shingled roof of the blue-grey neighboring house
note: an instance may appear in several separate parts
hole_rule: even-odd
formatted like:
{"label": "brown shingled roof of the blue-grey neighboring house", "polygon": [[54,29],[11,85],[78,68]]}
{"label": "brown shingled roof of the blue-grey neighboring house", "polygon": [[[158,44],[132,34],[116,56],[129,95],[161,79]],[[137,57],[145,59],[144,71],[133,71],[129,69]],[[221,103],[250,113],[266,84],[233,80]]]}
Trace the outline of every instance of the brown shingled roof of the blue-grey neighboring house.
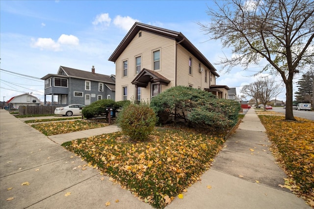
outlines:
{"label": "brown shingled roof of the blue-grey neighboring house", "polygon": [[84,80],[93,80],[98,82],[115,84],[114,80],[107,75],[92,73],[88,71],[78,70],[74,68],[60,66],[57,74],[48,74],[41,79],[47,79],[51,76],[64,77],[64,78],[78,78]]}

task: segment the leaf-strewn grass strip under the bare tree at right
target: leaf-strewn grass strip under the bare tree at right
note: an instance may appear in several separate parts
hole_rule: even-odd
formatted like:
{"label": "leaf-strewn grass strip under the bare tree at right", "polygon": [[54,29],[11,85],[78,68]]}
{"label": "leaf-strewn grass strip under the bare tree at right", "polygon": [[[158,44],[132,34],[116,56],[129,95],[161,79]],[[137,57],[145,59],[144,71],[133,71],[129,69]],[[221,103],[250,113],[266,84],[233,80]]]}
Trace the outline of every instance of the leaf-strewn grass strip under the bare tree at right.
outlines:
{"label": "leaf-strewn grass strip under the bare tree at right", "polygon": [[273,151],[288,179],[286,187],[314,207],[314,122],[302,118],[285,121],[284,116],[259,115]]}

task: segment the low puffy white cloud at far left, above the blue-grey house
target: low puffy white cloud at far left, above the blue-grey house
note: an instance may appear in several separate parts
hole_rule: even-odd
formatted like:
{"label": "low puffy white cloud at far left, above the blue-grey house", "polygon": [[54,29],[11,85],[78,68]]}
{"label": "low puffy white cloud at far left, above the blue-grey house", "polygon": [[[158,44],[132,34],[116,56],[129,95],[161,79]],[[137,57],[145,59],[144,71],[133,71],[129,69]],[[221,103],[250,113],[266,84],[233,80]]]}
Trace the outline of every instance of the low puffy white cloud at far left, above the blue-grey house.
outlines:
{"label": "low puffy white cloud at far left, above the blue-grey house", "polygon": [[34,48],[40,48],[40,50],[50,50],[50,51],[62,51],[63,45],[68,46],[78,46],[79,39],[74,35],[62,34],[58,41],[55,42],[52,38],[38,38],[37,40],[32,39],[31,46]]}

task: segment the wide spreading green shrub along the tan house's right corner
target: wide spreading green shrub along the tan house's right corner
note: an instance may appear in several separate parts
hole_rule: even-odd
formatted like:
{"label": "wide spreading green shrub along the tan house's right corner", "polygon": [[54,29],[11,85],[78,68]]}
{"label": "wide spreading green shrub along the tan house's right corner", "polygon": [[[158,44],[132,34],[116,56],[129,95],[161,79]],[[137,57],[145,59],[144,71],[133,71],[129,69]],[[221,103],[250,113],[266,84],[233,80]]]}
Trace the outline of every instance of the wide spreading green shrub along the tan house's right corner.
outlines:
{"label": "wide spreading green shrub along the tan house's right corner", "polygon": [[151,107],[160,123],[184,120],[188,125],[224,130],[237,122],[240,104],[217,99],[200,89],[176,86],[152,98]]}

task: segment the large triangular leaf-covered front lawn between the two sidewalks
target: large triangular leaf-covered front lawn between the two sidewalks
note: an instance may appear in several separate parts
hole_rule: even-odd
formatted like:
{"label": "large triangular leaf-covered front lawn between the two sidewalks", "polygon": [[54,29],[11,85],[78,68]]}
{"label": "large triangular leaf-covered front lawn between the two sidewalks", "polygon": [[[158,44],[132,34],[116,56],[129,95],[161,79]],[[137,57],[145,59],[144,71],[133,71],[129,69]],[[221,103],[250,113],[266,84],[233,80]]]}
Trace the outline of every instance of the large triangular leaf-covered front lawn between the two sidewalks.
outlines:
{"label": "large triangular leaf-covered front lawn between the two sidewalks", "polygon": [[157,128],[147,142],[134,142],[121,132],[63,146],[76,153],[146,203],[164,208],[209,168],[224,143],[190,130]]}

